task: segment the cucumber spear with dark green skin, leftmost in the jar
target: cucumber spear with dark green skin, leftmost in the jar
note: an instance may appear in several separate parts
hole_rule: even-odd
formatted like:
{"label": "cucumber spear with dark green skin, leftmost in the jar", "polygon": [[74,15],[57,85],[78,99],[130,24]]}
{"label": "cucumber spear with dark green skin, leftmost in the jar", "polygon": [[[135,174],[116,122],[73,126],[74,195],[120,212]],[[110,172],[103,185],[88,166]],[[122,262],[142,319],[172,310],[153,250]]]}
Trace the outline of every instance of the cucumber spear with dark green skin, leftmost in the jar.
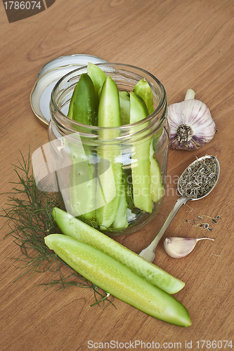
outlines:
{"label": "cucumber spear with dark green skin, leftmost in the jar", "polygon": [[[86,125],[96,125],[98,118],[98,100],[93,82],[84,73],[74,88],[67,117]],[[84,220],[91,220],[95,216],[96,169],[92,164],[93,155],[84,150],[79,135],[77,143],[67,140],[71,152],[70,167],[70,211],[74,216],[82,216]]]}

